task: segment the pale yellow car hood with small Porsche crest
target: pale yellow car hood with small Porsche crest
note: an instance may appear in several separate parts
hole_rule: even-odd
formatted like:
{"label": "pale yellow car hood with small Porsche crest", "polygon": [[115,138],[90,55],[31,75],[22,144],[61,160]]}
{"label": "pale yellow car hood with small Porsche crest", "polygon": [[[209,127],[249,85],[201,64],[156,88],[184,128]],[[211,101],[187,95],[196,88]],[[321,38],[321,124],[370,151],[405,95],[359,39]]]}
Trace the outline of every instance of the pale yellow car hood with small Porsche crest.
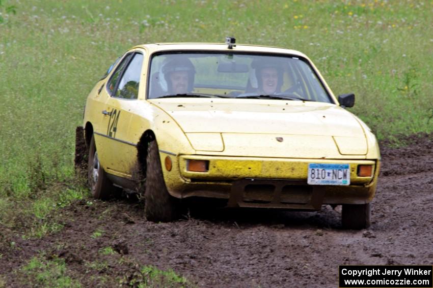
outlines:
{"label": "pale yellow car hood with small Porsche crest", "polygon": [[[294,154],[299,157],[367,153],[367,142],[359,121],[334,104],[187,98],[150,102],[179,124],[196,150],[236,155],[236,151],[242,149],[246,156],[276,157],[294,156],[293,153],[288,155],[288,150],[297,150]],[[215,137],[221,138],[219,145],[212,144],[218,142]],[[211,139],[207,145],[206,139],[208,142]],[[269,147],[275,148],[276,152],[269,153]],[[260,152],[261,148],[264,151]],[[250,152],[246,151],[249,149]]]}

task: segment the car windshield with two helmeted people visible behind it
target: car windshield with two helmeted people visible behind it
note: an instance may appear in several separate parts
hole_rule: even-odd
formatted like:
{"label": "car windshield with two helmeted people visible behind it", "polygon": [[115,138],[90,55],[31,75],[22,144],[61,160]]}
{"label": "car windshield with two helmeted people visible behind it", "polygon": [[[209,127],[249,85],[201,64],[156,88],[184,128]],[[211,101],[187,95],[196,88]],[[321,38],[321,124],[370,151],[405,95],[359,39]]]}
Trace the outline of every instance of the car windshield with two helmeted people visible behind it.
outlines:
{"label": "car windshield with two helmeted people visible behind it", "polygon": [[149,99],[224,97],[332,103],[307,61],[292,56],[164,53],[152,57]]}

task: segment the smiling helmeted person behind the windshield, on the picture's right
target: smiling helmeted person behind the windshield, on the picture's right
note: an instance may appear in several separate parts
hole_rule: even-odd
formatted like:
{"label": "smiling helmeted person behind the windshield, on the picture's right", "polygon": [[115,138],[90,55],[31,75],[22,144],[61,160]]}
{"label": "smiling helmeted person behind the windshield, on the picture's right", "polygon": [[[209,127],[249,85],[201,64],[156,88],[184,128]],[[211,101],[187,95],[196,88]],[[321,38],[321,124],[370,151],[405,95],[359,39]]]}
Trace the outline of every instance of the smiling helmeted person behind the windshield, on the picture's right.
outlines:
{"label": "smiling helmeted person behind the windshield, on the picture's right", "polygon": [[257,93],[270,95],[281,92],[283,85],[283,69],[276,60],[259,60],[251,65],[255,69]]}

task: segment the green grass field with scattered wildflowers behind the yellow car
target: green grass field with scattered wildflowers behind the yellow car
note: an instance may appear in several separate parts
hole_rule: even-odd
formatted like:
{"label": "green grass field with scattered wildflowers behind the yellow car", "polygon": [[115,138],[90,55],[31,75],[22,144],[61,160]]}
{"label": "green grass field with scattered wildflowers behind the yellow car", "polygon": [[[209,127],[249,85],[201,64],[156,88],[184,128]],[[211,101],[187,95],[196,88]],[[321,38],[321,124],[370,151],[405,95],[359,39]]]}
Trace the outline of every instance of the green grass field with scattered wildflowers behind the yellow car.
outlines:
{"label": "green grass field with scattered wildflowers behind the yellow car", "polygon": [[354,92],[378,139],[433,131],[433,1],[0,1],[0,225],[62,229],[88,197],[73,171],[87,94],[127,48],[222,42],[300,50],[336,95]]}

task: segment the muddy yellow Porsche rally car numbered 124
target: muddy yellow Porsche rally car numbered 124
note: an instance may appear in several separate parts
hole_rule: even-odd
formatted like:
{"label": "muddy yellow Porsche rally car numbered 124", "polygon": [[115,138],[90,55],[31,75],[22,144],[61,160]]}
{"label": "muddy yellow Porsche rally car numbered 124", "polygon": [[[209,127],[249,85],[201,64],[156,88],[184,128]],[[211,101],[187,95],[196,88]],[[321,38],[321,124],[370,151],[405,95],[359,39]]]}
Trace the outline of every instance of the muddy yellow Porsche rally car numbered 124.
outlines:
{"label": "muddy yellow Porsche rally car numbered 124", "polygon": [[95,198],[144,186],[153,221],[175,219],[179,199],[194,196],[227,207],[341,204],[343,227],[360,229],[380,152],[346,111],[354,103],[354,94],[337,99],[294,50],[233,38],[139,45],[90,92],[77,147],[86,144]]}

